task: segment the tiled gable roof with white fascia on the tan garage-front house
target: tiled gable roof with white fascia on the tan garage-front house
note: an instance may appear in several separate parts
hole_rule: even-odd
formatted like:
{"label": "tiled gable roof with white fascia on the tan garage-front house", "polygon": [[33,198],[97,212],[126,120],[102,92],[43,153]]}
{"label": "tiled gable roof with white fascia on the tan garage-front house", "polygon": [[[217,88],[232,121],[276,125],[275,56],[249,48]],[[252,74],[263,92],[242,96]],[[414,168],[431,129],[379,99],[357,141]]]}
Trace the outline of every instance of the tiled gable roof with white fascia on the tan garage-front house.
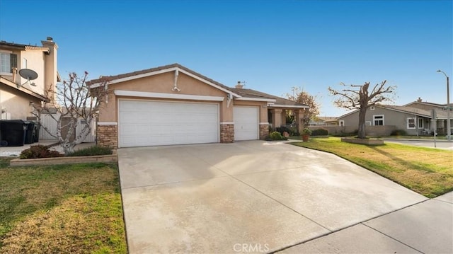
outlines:
{"label": "tiled gable roof with white fascia on the tan garage-front house", "polygon": [[170,71],[181,71],[188,76],[193,77],[194,79],[198,79],[202,82],[207,83],[210,86],[214,86],[219,90],[222,90],[226,93],[230,93],[232,96],[236,97],[238,100],[258,100],[258,101],[267,101],[271,103],[270,106],[272,107],[292,107],[292,108],[309,108],[308,105],[304,105],[301,103],[294,102],[292,100],[287,100],[285,98],[281,98],[278,96],[272,96],[268,93],[262,93],[260,91],[256,91],[253,89],[244,89],[244,88],[231,88],[229,86],[225,86],[222,83],[214,81],[213,79],[208,78],[207,76],[203,76],[202,74],[197,73],[187,67],[184,67],[178,63],[175,64],[168,64],[161,67],[155,67],[151,69],[143,69],[141,71],[133,71],[126,74],[119,74],[115,76],[101,76],[99,79],[92,79],[91,81],[86,81],[88,86],[97,87],[101,86],[103,82],[111,83],[120,83],[122,81],[132,80],[132,79],[140,79],[146,76],[152,76],[156,74],[162,74]]}

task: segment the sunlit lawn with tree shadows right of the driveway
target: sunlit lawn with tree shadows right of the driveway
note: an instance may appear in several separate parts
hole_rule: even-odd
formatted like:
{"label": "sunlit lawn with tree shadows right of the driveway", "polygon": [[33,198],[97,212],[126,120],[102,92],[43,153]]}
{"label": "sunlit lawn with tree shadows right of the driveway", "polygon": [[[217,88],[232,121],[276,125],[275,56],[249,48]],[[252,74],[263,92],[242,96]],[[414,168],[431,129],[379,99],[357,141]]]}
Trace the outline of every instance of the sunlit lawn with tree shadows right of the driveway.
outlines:
{"label": "sunlit lawn with tree shadows right of the driveway", "polygon": [[336,154],[425,197],[453,190],[453,151],[390,143],[365,146],[335,137],[292,144]]}

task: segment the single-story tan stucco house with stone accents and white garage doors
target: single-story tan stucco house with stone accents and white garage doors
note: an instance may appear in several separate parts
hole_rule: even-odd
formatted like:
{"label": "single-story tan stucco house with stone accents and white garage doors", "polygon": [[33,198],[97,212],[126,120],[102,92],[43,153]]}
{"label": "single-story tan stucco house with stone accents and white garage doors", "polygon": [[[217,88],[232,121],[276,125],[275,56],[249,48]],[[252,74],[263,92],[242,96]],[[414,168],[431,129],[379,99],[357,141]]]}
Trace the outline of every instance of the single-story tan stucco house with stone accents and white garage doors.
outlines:
{"label": "single-story tan stucco house with stone accents and white garage doors", "polygon": [[268,110],[274,122],[281,124],[283,110],[294,110],[300,120],[302,110],[308,108],[241,86],[224,86],[180,64],[101,76],[87,83],[109,91],[98,117],[97,140],[102,146],[264,139]]}

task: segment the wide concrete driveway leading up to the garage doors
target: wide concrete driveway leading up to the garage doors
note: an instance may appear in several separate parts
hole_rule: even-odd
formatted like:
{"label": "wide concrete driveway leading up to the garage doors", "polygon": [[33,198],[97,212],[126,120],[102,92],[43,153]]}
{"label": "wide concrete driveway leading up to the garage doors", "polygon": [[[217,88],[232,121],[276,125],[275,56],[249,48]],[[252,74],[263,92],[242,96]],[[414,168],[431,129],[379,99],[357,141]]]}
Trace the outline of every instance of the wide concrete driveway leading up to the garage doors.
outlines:
{"label": "wide concrete driveway leading up to the garage doors", "polygon": [[130,253],[268,253],[427,200],[284,143],[119,149],[118,158]]}

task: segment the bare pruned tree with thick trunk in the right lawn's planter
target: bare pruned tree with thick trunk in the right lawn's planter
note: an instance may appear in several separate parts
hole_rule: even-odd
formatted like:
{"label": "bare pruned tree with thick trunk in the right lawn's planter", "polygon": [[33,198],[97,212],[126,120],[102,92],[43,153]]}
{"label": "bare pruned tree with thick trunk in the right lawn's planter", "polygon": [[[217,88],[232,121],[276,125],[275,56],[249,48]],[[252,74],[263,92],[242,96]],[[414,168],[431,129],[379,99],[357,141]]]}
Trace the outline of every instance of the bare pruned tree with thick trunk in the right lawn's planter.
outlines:
{"label": "bare pruned tree with thick trunk in the right lawn's planter", "polygon": [[365,132],[365,115],[367,114],[367,109],[377,103],[394,100],[391,94],[394,94],[396,86],[385,86],[385,83],[385,80],[377,83],[371,93],[368,92],[369,82],[365,82],[361,86],[346,86],[344,83],[340,83],[341,86],[350,87],[343,88],[342,90],[328,88],[332,96],[338,97],[333,102],[337,107],[348,110],[359,110],[359,129],[357,134],[359,139],[365,139],[367,136]]}

